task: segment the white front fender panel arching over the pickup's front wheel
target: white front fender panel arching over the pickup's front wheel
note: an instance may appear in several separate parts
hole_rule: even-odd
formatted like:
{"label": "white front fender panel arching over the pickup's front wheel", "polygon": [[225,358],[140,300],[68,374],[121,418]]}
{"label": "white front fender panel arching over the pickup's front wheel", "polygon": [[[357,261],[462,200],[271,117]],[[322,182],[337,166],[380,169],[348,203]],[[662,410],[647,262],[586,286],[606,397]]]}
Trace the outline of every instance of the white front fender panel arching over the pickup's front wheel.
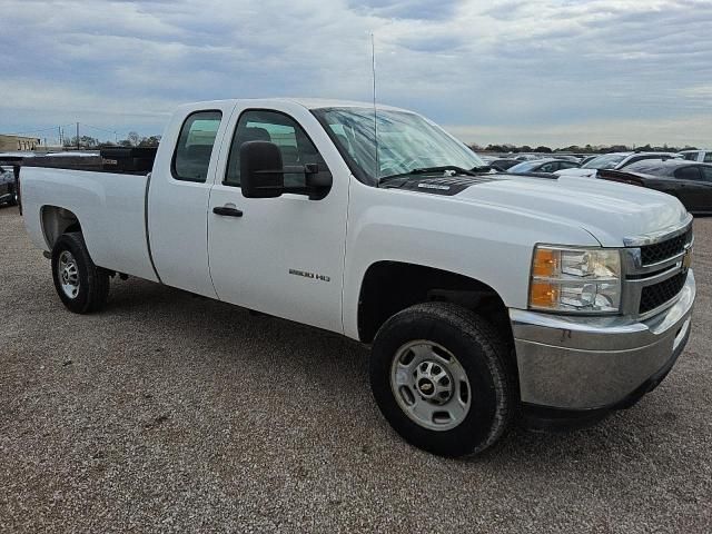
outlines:
{"label": "white front fender panel arching over the pickup's front wheel", "polygon": [[352,180],[344,271],[344,330],[358,339],[358,299],[368,267],[392,260],[466,276],[507,307],[525,308],[537,243],[599,246],[586,230],[501,206]]}

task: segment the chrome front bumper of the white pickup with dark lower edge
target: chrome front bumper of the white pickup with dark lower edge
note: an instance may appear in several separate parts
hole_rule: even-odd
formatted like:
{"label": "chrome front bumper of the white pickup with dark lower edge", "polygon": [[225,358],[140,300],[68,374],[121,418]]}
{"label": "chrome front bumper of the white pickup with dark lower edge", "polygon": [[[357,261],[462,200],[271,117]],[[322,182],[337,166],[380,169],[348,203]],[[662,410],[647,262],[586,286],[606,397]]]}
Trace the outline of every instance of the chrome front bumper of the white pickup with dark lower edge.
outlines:
{"label": "chrome front bumper of the white pickup with dark lower edge", "polygon": [[642,322],[511,309],[522,403],[582,414],[633,404],[683,350],[694,297],[690,270],[675,304]]}

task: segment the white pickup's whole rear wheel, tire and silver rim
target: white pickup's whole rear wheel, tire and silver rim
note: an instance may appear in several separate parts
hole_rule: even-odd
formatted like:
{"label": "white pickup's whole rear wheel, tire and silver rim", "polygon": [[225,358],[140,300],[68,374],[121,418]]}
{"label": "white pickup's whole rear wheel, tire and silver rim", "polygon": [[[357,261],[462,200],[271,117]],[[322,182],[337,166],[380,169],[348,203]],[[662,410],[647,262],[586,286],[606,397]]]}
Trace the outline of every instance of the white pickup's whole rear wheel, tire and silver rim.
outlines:
{"label": "white pickup's whole rear wheel, tire and silver rim", "polygon": [[52,248],[55,289],[76,314],[98,312],[109,296],[109,273],[97,267],[80,233],[63,234]]}

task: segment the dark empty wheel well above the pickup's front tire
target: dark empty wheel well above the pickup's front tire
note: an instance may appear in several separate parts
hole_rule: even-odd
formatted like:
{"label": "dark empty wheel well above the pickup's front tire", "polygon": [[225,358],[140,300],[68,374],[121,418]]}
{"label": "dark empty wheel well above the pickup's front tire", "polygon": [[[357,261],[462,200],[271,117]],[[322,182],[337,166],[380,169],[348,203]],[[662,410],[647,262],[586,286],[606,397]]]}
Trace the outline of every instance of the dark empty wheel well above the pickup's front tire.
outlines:
{"label": "dark empty wheel well above the pickup's front tire", "polygon": [[446,301],[483,315],[512,343],[507,308],[488,285],[467,276],[422,265],[378,261],[368,267],[358,300],[358,334],[370,343],[393,315],[419,303]]}

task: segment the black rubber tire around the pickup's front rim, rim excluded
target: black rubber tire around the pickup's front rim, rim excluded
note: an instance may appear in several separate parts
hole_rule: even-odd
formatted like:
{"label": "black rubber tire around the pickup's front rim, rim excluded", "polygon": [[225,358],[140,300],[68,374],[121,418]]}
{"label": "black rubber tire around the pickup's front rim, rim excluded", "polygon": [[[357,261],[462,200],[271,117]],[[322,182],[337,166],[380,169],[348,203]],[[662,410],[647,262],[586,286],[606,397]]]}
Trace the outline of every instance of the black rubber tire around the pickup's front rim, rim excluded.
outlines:
{"label": "black rubber tire around the pickup's front rim, rim excluded", "polygon": [[[396,400],[392,366],[409,342],[427,340],[455,356],[469,383],[469,411],[449,429],[431,429],[411,418]],[[507,345],[485,319],[456,305],[426,303],[390,317],[378,330],[370,356],[370,387],[380,412],[412,445],[441,456],[474,455],[492,446],[511,424],[516,377]]]}

